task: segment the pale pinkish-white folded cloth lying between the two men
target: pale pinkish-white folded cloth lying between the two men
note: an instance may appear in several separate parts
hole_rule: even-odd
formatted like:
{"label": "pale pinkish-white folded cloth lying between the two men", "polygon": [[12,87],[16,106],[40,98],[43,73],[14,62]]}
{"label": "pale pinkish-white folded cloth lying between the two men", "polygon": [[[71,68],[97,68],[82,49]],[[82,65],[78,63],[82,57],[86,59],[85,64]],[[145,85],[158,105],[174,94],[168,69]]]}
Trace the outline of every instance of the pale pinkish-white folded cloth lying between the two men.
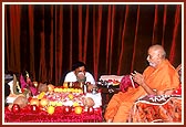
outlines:
{"label": "pale pinkish-white folded cloth lying between the two men", "polygon": [[121,82],[123,75],[118,76],[118,75],[102,75],[100,77],[100,81],[117,81]]}

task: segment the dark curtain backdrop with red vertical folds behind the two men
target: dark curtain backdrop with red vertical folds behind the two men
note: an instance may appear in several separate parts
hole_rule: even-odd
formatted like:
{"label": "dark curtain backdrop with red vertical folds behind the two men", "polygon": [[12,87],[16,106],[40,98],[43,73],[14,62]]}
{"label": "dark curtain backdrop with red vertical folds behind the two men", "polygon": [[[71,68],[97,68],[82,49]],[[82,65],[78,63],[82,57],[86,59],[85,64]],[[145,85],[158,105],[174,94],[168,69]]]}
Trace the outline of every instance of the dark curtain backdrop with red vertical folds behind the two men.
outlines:
{"label": "dark curtain backdrop with red vertical folds behind the two men", "polygon": [[180,4],[6,4],[4,70],[60,85],[76,61],[95,80],[148,65],[147,49],[162,44],[182,63]]}

